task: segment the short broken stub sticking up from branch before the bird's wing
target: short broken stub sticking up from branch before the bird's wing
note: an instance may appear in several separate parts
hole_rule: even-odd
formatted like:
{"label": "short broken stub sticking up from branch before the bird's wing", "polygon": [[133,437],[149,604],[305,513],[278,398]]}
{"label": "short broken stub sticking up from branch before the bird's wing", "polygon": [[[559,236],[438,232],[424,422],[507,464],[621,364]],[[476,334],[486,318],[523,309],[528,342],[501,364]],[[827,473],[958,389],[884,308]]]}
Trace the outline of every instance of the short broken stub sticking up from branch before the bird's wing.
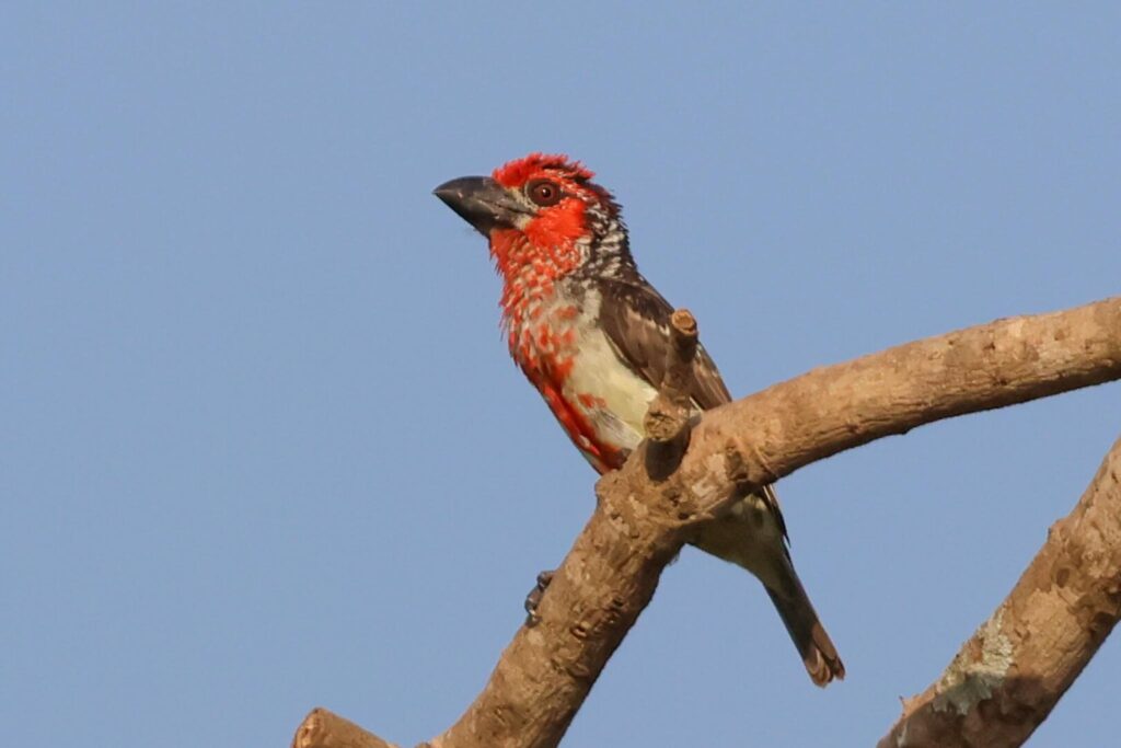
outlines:
{"label": "short broken stub sticking up from branch before the bird's wing", "polygon": [[689,444],[693,418],[693,360],[697,352],[697,321],[688,310],[669,318],[670,345],[657,397],[647,409],[646,472],[661,481],[677,470]]}

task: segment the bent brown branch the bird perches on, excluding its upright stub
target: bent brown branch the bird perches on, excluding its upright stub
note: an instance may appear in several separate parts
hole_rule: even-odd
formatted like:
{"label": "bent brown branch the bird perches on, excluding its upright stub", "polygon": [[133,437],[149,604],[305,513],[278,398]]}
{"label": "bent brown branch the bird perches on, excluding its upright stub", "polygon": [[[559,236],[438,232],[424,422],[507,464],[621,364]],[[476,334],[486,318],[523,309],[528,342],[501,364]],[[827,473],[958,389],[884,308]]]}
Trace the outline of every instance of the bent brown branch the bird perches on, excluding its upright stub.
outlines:
{"label": "bent brown branch the bird perches on, excluding its upright stub", "polygon": [[[682,349],[687,354],[688,345]],[[815,369],[705,413],[676,470],[649,470],[664,455],[643,445],[596,484],[595,511],[544,595],[538,622],[518,630],[475,702],[430,745],[557,745],[661,570],[738,489],[926,423],[1118,378],[1121,297]]]}

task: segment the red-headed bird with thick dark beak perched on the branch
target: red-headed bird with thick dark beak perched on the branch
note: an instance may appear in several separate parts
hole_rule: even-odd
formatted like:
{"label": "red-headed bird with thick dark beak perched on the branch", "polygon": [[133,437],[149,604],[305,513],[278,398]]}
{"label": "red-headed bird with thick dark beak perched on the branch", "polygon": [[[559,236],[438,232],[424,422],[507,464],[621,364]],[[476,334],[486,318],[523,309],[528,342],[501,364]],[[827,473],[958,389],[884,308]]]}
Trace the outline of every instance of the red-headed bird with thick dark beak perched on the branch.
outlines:
{"label": "red-headed bird with thick dark beak perched on the branch", "polygon": [[[510,354],[602,474],[621,468],[645,437],[674,308],[639,273],[621,206],[594,177],[565,155],[532,153],[490,176],[451,179],[433,192],[487,238],[502,281]],[[703,345],[692,375],[697,412],[731,401]],[[762,582],[816,685],[844,678],[795,572],[772,486],[738,498],[693,544]]]}

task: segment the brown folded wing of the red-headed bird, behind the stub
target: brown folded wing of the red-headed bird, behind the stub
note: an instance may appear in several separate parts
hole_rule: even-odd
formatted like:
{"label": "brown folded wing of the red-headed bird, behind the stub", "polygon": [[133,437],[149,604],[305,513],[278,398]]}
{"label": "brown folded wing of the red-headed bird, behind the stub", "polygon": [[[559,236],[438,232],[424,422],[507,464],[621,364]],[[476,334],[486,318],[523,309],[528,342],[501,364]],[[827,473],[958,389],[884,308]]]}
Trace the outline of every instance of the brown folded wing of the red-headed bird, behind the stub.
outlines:
{"label": "brown folded wing of the red-headed bird, behind the stub", "polygon": [[[632,284],[606,279],[599,283],[603,293],[600,324],[608,340],[631,370],[659,387],[666,375],[669,317],[674,308],[645,281]],[[731,401],[732,396],[704,345],[697,347],[693,377],[693,399],[702,409]]]}

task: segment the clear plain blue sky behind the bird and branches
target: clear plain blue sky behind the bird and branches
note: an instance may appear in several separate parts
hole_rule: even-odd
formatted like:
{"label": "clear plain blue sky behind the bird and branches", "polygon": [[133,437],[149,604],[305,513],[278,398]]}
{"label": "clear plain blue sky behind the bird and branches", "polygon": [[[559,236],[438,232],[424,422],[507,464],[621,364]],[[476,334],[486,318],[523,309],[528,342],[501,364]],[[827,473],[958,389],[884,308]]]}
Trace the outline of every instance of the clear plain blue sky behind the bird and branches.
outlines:
{"label": "clear plain blue sky behind the bird and branches", "polygon": [[[444,729],[593,506],[430,190],[599,172],[733,393],[1121,289],[1112,3],[0,10],[0,717],[10,745]],[[784,480],[849,668],[686,551],[567,745],[870,745],[1121,431],[1119,386]],[[1035,746],[1114,737],[1108,641]]]}

